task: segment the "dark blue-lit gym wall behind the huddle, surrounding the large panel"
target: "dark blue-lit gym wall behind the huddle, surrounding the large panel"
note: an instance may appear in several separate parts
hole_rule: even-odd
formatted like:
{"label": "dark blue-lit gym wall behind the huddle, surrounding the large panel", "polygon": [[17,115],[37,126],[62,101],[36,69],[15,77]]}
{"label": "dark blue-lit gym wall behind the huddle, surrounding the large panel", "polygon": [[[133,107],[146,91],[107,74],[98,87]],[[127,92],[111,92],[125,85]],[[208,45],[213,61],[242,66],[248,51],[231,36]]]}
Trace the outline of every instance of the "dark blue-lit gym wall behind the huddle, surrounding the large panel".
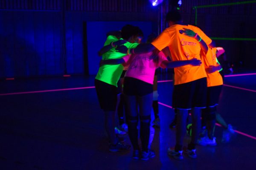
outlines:
{"label": "dark blue-lit gym wall behind the huddle, surrounding the large panel", "polygon": [[[183,0],[180,11],[185,23],[194,23],[193,6],[237,1]],[[164,1],[163,17],[169,6]],[[160,9],[148,0],[1,0],[0,78],[89,74],[84,22],[151,22],[157,32]],[[209,37],[256,38],[255,21],[256,4],[198,9],[198,26]],[[256,62],[255,41],[217,40],[217,45],[230,62],[245,67]]]}

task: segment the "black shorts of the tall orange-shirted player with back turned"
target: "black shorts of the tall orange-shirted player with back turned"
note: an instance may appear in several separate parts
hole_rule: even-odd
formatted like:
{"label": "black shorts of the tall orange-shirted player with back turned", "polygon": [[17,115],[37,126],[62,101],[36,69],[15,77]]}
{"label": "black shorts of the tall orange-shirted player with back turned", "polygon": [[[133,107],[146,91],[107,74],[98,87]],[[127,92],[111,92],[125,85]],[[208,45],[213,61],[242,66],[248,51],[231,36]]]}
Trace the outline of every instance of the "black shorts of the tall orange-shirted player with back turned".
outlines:
{"label": "black shorts of the tall orange-shirted player with back turned", "polygon": [[207,94],[206,77],[192,82],[174,85],[172,107],[177,109],[205,108]]}

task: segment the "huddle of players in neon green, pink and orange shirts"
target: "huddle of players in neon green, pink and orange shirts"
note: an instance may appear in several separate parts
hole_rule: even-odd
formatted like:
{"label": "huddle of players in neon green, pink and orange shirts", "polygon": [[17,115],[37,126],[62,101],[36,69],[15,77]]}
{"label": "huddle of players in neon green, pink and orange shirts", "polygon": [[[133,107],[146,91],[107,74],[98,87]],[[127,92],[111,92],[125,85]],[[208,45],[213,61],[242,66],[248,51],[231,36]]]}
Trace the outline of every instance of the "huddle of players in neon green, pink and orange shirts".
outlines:
{"label": "huddle of players in neon green, pink and orange shirts", "polygon": [[[175,159],[183,159],[183,153],[196,158],[196,145],[216,145],[214,130],[216,118],[233,133],[221,116],[216,116],[216,105],[221,94],[223,78],[216,56],[224,52],[200,28],[183,25],[178,11],[166,15],[169,27],[158,37],[153,34],[146,43],[141,43],[143,31],[139,27],[126,25],[121,31],[107,35],[95,88],[100,107],[105,112],[105,130],[109,138],[109,150],[129,150],[116,136],[116,111],[125,104],[129,139],[133,147],[133,158],[148,160],[155,156],[149,146],[151,109],[155,113],[154,125],[160,126],[157,102],[157,79],[155,70],[174,68],[174,89],[172,107],[175,108],[176,144],[167,153]],[[169,49],[172,61],[167,59],[163,49]],[[121,101],[121,102],[119,102]],[[119,107],[118,107],[119,106]],[[119,108],[119,109],[118,109]],[[190,143],[183,147],[187,117],[191,113],[192,133]],[[202,116],[202,120],[201,120]],[[123,116],[119,116],[122,125]],[[138,123],[140,121],[140,129]],[[198,138],[202,125],[206,126],[205,136]],[[140,131],[141,148],[138,142]],[[225,133],[226,134],[226,133]],[[227,136],[227,135],[226,135]]]}

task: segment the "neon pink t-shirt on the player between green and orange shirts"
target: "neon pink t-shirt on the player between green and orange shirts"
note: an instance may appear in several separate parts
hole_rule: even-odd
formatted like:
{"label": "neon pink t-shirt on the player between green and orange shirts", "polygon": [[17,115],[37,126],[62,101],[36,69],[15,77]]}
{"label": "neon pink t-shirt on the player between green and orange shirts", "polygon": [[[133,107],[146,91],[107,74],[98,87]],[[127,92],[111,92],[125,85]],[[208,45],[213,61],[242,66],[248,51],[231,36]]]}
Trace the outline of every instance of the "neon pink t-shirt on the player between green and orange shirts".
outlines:
{"label": "neon pink t-shirt on the player between green and orange shirts", "polygon": [[[144,82],[153,84],[155,70],[164,60],[167,60],[162,51],[158,54],[158,63],[151,58],[152,52],[123,57],[125,62],[131,60],[131,65],[125,73],[125,77],[133,77]],[[129,59],[128,59],[129,58]]]}

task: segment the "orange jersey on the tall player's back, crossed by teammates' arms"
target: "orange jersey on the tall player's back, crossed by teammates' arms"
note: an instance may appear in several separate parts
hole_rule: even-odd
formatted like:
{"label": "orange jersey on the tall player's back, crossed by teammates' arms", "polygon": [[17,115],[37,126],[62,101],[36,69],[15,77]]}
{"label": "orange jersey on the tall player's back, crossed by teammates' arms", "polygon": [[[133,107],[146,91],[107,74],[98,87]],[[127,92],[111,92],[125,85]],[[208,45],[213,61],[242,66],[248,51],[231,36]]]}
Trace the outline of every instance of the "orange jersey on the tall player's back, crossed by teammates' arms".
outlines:
{"label": "orange jersey on the tall player's back, crossed by teammates' arms", "polygon": [[[183,34],[183,28],[191,29],[197,33],[207,44],[212,40],[204,34],[201,29],[191,25],[174,25],[166,28],[151,44],[158,50],[162,50],[166,46],[172,55],[173,61],[190,60],[193,58],[200,59],[201,46],[200,42],[194,37],[189,37]],[[203,77],[207,77],[204,65],[192,66],[185,65],[174,68],[175,71],[175,85],[192,82]]]}

